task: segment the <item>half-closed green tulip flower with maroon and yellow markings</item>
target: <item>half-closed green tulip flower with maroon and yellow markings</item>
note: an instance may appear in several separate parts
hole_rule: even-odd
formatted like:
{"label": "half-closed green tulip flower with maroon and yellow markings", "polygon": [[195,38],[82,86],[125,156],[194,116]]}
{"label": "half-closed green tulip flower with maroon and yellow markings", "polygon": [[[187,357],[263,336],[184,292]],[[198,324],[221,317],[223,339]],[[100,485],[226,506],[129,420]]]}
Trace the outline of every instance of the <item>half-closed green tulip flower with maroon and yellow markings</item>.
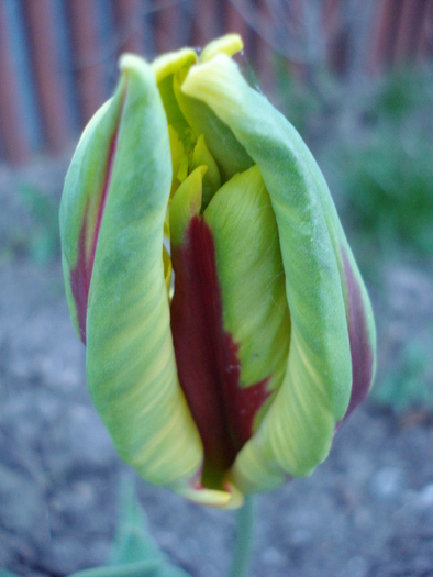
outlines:
{"label": "half-closed green tulip flower with maroon and yellow markings", "polygon": [[200,55],[122,56],[60,208],[68,304],[119,454],[223,508],[310,475],[375,371],[325,180],[241,49],[227,35]]}

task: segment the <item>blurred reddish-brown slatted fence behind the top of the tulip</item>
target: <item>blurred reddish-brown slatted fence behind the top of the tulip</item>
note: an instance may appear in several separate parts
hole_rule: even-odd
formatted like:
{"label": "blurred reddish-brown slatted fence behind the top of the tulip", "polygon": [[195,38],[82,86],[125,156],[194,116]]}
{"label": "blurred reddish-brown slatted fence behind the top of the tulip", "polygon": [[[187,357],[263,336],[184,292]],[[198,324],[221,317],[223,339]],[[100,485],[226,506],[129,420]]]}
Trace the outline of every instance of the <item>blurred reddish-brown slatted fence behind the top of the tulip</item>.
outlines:
{"label": "blurred reddish-brown slatted fence behind the top of the tulip", "polygon": [[[147,58],[238,32],[259,81],[377,74],[433,52],[433,0],[0,0],[0,159],[58,153],[107,99],[121,52]],[[280,68],[279,68],[280,69]]]}

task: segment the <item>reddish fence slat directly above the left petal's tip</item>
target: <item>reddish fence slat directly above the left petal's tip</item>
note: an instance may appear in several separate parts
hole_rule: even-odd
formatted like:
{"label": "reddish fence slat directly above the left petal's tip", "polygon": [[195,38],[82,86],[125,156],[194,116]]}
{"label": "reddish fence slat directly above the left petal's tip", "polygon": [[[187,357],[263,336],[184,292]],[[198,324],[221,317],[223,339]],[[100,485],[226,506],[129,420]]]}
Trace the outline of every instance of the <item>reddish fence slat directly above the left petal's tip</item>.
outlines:
{"label": "reddish fence slat directly above the left petal's tip", "polygon": [[115,24],[120,38],[120,49],[144,54],[143,2],[141,0],[114,0]]}

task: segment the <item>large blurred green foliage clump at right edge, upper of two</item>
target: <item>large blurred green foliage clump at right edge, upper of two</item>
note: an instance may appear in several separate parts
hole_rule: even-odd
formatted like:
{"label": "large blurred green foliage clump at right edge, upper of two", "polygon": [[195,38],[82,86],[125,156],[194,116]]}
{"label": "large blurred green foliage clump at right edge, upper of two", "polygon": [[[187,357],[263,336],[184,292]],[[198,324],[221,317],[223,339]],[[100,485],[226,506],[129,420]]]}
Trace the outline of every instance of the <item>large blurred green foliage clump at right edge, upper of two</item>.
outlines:
{"label": "large blurred green foliage clump at right edge, upper of two", "polygon": [[342,190],[355,231],[382,253],[433,254],[433,75],[389,77],[362,112],[364,133],[342,154]]}

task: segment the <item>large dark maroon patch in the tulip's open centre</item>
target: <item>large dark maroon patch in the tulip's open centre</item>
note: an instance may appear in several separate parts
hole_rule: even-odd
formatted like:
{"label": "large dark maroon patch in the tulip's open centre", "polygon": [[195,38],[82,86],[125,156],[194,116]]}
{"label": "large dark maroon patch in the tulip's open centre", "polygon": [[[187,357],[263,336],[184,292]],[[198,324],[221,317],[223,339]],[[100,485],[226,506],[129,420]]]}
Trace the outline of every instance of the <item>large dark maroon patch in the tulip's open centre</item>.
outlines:
{"label": "large dark maroon patch in the tulip's open centre", "polygon": [[177,370],[204,450],[204,466],[226,471],[253,434],[269,396],[268,378],[240,387],[238,345],[224,332],[212,233],[193,217],[184,245],[173,248],[171,333]]}

